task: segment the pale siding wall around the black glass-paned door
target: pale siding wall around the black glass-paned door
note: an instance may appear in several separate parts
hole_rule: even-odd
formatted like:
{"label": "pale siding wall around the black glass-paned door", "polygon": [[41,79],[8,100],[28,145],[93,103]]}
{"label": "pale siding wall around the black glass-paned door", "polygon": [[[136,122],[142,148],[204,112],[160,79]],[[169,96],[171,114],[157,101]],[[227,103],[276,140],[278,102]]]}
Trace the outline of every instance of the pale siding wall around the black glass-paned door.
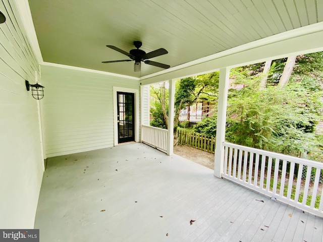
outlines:
{"label": "pale siding wall around the black glass-paned door", "polygon": [[138,80],[45,65],[41,78],[47,157],[114,146],[113,87]]}

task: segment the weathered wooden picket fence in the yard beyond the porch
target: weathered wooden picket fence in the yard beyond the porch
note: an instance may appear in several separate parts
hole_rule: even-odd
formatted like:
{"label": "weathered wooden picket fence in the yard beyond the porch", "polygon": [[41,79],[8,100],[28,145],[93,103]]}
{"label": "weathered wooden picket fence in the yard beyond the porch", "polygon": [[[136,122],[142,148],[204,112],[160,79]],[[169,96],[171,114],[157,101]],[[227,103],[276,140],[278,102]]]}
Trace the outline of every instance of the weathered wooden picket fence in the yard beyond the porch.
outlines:
{"label": "weathered wooden picket fence in the yard beyond the porch", "polygon": [[188,145],[213,154],[216,150],[216,139],[213,136],[207,138],[206,135],[179,130],[178,138],[178,144],[180,145]]}

